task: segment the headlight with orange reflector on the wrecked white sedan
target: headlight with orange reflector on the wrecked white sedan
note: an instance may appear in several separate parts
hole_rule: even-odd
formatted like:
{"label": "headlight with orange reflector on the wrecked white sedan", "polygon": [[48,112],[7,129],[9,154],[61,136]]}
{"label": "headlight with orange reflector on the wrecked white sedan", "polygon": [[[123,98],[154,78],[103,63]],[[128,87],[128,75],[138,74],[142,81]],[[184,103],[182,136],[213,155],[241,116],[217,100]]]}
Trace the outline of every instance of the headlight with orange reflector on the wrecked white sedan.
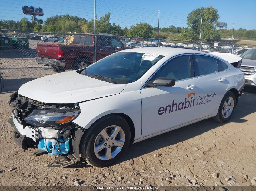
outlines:
{"label": "headlight with orange reflector on the wrecked white sedan", "polygon": [[33,126],[55,127],[70,123],[80,112],[78,109],[35,109],[24,120]]}

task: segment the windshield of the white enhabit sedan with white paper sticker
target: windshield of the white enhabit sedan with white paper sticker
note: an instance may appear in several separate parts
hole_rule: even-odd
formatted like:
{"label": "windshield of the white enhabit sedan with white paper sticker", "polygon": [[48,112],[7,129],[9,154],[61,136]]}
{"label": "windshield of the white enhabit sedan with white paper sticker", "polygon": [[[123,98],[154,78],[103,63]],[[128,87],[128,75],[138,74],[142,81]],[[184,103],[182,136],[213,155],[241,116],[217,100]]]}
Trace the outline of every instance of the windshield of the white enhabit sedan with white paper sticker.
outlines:
{"label": "windshield of the white enhabit sedan with white paper sticker", "polygon": [[88,66],[81,74],[116,84],[137,81],[164,56],[147,53],[118,52]]}

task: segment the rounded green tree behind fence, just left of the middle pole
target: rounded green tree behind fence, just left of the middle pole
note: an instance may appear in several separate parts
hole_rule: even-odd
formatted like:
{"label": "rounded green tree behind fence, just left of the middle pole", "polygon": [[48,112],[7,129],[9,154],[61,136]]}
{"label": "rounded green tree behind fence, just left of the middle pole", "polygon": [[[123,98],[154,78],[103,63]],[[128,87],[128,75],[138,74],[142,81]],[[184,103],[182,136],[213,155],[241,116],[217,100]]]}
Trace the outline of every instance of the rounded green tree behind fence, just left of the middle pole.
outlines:
{"label": "rounded green tree behind fence, just left of the middle pole", "polygon": [[137,23],[132,25],[128,31],[128,35],[131,37],[146,37],[152,38],[155,33],[153,27],[147,23]]}

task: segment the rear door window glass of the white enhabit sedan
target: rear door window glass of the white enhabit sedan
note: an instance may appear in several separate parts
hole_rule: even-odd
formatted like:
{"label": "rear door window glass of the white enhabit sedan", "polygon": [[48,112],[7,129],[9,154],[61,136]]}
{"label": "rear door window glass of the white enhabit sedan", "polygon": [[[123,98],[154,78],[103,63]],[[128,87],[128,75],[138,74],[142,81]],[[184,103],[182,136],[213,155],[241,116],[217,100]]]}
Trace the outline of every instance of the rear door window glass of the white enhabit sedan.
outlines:
{"label": "rear door window glass of the white enhabit sedan", "polygon": [[218,72],[215,58],[203,55],[194,55],[195,76],[201,76]]}

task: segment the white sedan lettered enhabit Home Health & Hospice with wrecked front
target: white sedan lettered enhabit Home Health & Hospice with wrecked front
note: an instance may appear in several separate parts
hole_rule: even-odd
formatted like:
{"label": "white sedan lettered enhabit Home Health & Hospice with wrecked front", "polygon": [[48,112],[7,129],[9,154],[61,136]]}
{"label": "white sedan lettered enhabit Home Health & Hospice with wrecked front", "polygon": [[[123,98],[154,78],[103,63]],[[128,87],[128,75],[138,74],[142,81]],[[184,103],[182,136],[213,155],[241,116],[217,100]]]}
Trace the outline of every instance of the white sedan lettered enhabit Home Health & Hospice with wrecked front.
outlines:
{"label": "white sedan lettered enhabit Home Health & Hospice with wrecked front", "polygon": [[24,150],[37,145],[35,155],[62,154],[50,166],[81,155],[106,167],[130,143],[211,117],[227,122],[244,83],[241,71],[212,54],[127,49],[23,84],[10,99],[14,140]]}

